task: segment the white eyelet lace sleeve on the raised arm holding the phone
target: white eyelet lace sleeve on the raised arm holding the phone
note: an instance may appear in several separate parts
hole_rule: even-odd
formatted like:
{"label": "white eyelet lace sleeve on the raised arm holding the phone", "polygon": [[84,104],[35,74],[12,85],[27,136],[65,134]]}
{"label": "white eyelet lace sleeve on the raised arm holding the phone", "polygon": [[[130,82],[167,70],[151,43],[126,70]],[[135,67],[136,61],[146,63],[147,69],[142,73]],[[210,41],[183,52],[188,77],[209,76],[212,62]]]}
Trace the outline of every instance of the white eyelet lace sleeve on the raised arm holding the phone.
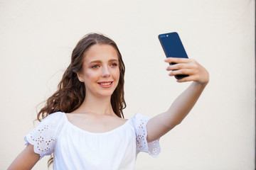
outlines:
{"label": "white eyelet lace sleeve on the raised arm holding the phone", "polygon": [[137,113],[132,119],[136,131],[137,154],[139,154],[139,152],[147,152],[149,155],[151,155],[151,157],[158,157],[159,153],[161,152],[159,139],[154,140],[153,142],[146,141],[146,123],[148,123],[150,118]]}

